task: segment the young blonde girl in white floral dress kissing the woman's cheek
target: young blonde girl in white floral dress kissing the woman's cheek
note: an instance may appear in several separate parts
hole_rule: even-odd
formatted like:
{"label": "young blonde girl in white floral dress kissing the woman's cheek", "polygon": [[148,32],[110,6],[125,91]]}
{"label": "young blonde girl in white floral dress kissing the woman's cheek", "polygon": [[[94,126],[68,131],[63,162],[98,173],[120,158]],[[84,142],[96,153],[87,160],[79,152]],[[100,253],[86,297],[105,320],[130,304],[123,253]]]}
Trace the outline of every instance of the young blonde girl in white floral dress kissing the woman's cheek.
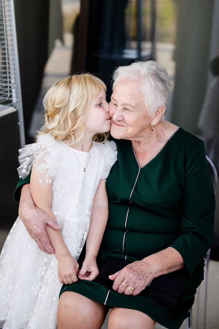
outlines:
{"label": "young blonde girl in white floral dress kissing the woman's cheek", "polygon": [[59,291],[63,283],[78,280],[77,259],[86,238],[80,277],[98,275],[96,255],[108,216],[105,179],[117,159],[115,143],[106,141],[111,118],[105,91],[91,74],[58,81],[45,95],[46,122],[37,143],[19,150],[20,177],[29,175],[33,164],[36,207],[62,229],[46,226],[55,250],[48,255],[20,218],[15,221],[0,256],[0,320],[7,319],[6,329],[56,328]]}

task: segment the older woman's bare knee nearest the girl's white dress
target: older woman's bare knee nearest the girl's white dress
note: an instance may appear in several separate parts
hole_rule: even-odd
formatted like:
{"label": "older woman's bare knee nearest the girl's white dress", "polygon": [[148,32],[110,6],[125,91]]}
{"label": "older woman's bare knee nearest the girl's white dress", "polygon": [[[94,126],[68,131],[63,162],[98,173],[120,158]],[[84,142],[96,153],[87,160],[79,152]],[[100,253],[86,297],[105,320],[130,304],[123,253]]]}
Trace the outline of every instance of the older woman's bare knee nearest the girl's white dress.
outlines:
{"label": "older woman's bare knee nearest the girl's white dress", "polygon": [[57,312],[59,329],[100,329],[109,311],[94,300],[76,292],[65,291],[59,299]]}

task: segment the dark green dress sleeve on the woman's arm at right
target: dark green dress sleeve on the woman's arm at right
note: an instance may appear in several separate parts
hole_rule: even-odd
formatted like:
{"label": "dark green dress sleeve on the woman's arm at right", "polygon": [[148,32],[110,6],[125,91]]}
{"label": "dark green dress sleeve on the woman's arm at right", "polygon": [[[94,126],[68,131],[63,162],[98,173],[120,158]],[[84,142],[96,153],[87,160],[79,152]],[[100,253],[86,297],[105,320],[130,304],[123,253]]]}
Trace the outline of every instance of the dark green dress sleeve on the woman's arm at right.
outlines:
{"label": "dark green dress sleeve on the woman's arm at right", "polygon": [[185,167],[182,234],[170,245],[182,256],[189,275],[213,241],[214,211],[214,191],[208,173],[204,142],[201,140]]}

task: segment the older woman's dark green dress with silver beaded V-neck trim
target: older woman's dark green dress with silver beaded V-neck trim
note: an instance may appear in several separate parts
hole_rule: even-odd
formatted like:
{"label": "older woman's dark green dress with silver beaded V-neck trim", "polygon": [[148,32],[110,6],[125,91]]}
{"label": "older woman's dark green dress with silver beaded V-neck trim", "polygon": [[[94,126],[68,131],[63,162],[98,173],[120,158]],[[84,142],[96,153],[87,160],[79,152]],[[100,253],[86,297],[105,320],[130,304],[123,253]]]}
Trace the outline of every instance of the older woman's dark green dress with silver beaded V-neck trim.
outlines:
{"label": "older woman's dark green dress with silver beaded V-neck trim", "polygon": [[[196,288],[203,280],[203,257],[213,240],[215,199],[204,142],[179,128],[140,168],[131,141],[115,141],[118,160],[106,181],[109,218],[97,265],[101,270],[110,257],[134,262],[171,246],[185,262],[171,275],[188,282],[187,293],[174,307],[147,296],[120,294],[99,277],[64,285],[61,293],[75,291],[111,307],[135,309],[177,329],[189,316]],[[80,267],[83,259],[82,252]]]}

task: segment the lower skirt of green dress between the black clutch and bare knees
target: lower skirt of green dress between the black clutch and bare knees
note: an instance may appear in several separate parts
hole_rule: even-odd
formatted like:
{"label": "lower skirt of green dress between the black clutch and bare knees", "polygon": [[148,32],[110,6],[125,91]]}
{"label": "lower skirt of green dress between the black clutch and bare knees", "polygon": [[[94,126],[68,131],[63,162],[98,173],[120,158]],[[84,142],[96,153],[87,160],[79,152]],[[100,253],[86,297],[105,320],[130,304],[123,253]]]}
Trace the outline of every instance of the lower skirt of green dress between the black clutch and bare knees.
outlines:
{"label": "lower skirt of green dress between the black clutch and bare knees", "polygon": [[[110,290],[110,285],[102,280],[85,281],[79,280],[71,285],[63,286],[61,295],[65,291],[72,291],[87,297],[97,303],[102,304],[102,307],[114,307],[119,309],[127,309],[127,311],[139,311],[154,319],[166,328],[177,329],[180,327],[183,319],[187,316],[187,308],[193,301],[187,300],[183,302],[182,307],[173,307],[168,304],[158,302],[147,296],[124,295],[116,291]],[[110,292],[109,292],[110,290]],[[108,293],[109,292],[109,293]],[[103,305],[105,304],[105,305]],[[190,306],[191,307],[191,306]]]}

